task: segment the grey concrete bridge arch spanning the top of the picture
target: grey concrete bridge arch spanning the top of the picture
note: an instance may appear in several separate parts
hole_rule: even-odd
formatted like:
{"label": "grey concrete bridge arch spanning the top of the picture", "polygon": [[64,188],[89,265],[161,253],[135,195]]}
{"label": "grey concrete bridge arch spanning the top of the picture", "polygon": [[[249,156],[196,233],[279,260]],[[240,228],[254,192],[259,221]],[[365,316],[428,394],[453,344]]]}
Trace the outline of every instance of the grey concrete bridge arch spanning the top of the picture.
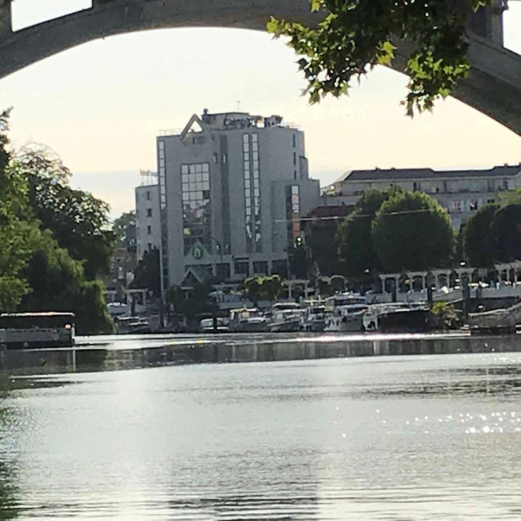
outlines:
{"label": "grey concrete bridge arch spanning the top of the picture", "polygon": [[[10,5],[1,18],[8,17]],[[6,14],[7,13],[7,14]],[[312,24],[309,0],[93,0],[93,7],[17,32],[0,30],[0,78],[45,57],[115,34],[176,27],[265,30],[270,15]],[[400,42],[393,68],[403,71],[410,50]],[[472,76],[453,93],[458,100],[521,135],[521,56],[472,36]]]}

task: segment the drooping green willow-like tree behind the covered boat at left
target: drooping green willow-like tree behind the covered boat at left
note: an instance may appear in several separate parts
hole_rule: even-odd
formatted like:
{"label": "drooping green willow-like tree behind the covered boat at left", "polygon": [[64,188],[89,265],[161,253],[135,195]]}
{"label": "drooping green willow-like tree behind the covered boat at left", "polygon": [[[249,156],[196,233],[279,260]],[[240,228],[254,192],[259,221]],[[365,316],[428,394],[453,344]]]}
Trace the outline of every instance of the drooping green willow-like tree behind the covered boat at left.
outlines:
{"label": "drooping green willow-like tree behind the covered boat at left", "polygon": [[58,246],[49,230],[39,232],[36,249],[22,271],[31,291],[22,299],[26,311],[72,311],[80,334],[111,333],[100,281],[85,279],[82,263]]}

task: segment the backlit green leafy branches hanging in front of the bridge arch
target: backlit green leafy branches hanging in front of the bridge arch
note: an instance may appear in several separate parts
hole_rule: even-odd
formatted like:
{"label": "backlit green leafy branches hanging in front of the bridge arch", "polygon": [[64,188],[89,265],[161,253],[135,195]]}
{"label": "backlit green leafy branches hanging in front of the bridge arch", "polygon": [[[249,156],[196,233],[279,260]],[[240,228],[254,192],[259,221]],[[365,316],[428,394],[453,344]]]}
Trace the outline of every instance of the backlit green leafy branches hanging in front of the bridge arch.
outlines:
{"label": "backlit green leafy branches hanging in front of the bridge arch", "polygon": [[[271,18],[268,31],[288,36],[307,80],[311,103],[327,94],[340,96],[376,65],[390,65],[397,46],[410,46],[406,72],[407,114],[430,110],[436,98],[450,94],[469,75],[466,26],[472,9],[492,0],[367,2],[311,0],[323,19],[316,27]],[[407,51],[406,51],[407,52]]]}

